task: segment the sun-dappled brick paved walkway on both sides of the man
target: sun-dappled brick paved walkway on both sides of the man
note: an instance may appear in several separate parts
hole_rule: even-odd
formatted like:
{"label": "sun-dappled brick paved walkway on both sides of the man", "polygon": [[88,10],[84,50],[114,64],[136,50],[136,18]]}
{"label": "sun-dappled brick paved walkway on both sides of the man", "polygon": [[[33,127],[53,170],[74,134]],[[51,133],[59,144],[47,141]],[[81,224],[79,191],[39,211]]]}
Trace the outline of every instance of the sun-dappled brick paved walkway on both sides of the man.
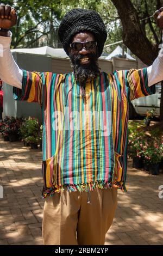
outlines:
{"label": "sun-dappled brick paved walkway on both sides of the man", "polygon": [[[40,150],[0,138],[0,245],[42,245],[43,200]],[[106,245],[163,245],[163,174],[149,175],[128,164],[128,192],[118,193],[118,208]],[[163,194],[163,193],[162,193]]]}

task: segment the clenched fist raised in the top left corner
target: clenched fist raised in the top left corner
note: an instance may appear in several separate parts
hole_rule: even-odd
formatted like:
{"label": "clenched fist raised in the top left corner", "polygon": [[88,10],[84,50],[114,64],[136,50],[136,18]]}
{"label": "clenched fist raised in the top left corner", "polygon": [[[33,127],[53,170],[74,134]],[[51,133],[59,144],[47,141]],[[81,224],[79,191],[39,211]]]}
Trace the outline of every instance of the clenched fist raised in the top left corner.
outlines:
{"label": "clenched fist raised in the top left corner", "polygon": [[0,4],[0,28],[9,29],[16,24],[16,21],[16,10],[8,4]]}

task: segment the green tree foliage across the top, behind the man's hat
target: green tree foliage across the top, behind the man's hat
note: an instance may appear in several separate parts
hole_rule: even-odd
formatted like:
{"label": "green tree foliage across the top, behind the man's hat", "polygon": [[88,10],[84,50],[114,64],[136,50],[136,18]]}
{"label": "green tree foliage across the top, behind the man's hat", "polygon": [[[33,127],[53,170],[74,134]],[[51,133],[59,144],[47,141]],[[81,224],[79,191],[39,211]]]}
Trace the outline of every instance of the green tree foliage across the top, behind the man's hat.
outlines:
{"label": "green tree foliage across the top, behind the man's hat", "polygon": [[[153,15],[158,1],[131,0],[131,2],[137,10],[143,33],[153,45],[158,44],[161,39],[160,29],[156,26],[153,18],[147,19]],[[122,40],[122,24],[111,0],[5,0],[4,4],[15,7],[18,14],[17,26],[11,28],[14,38],[11,43],[12,48],[37,47],[38,40],[42,35],[47,36],[45,44],[58,47],[57,31],[59,23],[67,11],[73,8],[98,11],[108,31],[108,39],[105,45]],[[153,31],[155,31],[155,35]],[[120,45],[122,46],[123,43],[120,43]],[[115,47],[116,45],[105,47],[104,51],[109,53]]]}

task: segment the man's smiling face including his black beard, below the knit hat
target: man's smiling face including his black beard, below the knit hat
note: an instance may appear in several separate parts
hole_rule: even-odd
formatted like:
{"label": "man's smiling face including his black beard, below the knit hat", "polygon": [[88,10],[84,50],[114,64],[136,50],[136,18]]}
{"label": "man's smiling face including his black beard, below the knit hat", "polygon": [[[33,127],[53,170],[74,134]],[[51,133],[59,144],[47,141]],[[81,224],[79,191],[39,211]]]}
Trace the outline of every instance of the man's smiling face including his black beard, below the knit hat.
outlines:
{"label": "man's smiling face including his black beard, below the knit hat", "polygon": [[[74,42],[96,42],[96,38],[90,32],[80,32],[73,36],[71,44]],[[89,44],[89,43],[88,43]],[[99,68],[97,63],[97,51],[98,48],[95,45],[91,48],[82,45],[83,48],[80,50],[74,50],[73,47],[69,47],[69,57],[74,70],[74,76],[77,81],[80,81],[84,86],[87,78],[96,78],[99,74]]]}

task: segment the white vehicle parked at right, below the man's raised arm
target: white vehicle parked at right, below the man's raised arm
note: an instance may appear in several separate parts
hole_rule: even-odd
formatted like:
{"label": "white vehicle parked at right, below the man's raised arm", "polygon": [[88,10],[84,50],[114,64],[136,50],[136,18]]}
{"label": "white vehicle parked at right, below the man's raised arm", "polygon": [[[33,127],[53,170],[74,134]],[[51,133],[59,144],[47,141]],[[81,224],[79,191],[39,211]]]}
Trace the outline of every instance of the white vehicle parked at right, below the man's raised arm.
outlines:
{"label": "white vehicle parked at right, below the man's raised arm", "polygon": [[147,111],[155,107],[155,117],[160,116],[161,84],[156,84],[156,93],[146,97],[140,97],[131,101],[129,109],[129,118],[139,115],[146,115]]}

